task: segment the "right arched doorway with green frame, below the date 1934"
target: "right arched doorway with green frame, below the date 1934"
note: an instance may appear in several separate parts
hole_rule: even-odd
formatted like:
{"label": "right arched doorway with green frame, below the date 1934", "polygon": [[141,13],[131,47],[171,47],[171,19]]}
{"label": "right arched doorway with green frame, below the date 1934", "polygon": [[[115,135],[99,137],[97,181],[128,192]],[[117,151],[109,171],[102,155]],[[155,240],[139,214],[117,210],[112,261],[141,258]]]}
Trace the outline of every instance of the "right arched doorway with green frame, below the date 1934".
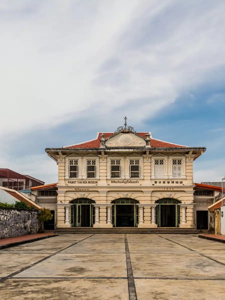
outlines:
{"label": "right arched doorway with green frame, below the date 1934", "polygon": [[179,227],[180,206],[177,199],[163,198],[155,201],[158,203],[155,211],[155,223],[158,227]]}

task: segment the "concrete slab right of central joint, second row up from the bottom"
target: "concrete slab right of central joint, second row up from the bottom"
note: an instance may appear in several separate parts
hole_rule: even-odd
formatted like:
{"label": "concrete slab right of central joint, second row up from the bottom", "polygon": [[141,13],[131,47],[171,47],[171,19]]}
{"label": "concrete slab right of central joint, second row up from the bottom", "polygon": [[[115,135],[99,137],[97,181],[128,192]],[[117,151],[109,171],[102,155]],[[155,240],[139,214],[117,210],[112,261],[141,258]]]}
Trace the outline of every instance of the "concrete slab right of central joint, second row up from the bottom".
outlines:
{"label": "concrete slab right of central joint, second row up from the bottom", "polygon": [[225,267],[198,254],[130,254],[134,277],[219,278]]}

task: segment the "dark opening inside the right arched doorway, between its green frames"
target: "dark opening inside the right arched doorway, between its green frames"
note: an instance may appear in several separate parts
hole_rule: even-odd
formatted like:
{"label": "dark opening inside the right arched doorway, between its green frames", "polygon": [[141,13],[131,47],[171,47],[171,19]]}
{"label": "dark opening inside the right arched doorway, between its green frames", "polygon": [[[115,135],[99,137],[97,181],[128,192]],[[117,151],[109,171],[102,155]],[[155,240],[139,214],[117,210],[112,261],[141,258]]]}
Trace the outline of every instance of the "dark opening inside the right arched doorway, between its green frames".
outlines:
{"label": "dark opening inside the right arched doorway, between its green frames", "polygon": [[176,205],[162,204],[160,211],[161,227],[176,226]]}

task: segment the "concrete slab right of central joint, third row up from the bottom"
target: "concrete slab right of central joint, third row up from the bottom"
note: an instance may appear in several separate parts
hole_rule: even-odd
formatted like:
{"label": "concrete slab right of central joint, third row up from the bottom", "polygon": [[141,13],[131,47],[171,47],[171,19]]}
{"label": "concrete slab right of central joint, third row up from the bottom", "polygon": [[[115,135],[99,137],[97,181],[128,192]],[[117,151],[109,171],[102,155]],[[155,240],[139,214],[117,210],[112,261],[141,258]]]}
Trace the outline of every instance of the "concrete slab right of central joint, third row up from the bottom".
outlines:
{"label": "concrete slab right of central joint, third row up from the bottom", "polygon": [[191,253],[192,251],[181,247],[177,244],[164,242],[164,243],[129,243],[129,251],[130,253]]}

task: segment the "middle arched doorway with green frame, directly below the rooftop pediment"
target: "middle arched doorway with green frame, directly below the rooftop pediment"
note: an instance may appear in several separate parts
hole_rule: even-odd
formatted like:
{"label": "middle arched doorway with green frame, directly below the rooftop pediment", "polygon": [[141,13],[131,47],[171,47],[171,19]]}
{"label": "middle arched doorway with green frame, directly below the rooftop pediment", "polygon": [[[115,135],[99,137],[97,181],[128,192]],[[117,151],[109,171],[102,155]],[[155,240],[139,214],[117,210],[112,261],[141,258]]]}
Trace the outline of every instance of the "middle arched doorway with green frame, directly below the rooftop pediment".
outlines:
{"label": "middle arched doorway with green frame, directly below the rooftop pediment", "polygon": [[112,221],[113,227],[137,227],[139,201],[130,198],[113,200]]}

